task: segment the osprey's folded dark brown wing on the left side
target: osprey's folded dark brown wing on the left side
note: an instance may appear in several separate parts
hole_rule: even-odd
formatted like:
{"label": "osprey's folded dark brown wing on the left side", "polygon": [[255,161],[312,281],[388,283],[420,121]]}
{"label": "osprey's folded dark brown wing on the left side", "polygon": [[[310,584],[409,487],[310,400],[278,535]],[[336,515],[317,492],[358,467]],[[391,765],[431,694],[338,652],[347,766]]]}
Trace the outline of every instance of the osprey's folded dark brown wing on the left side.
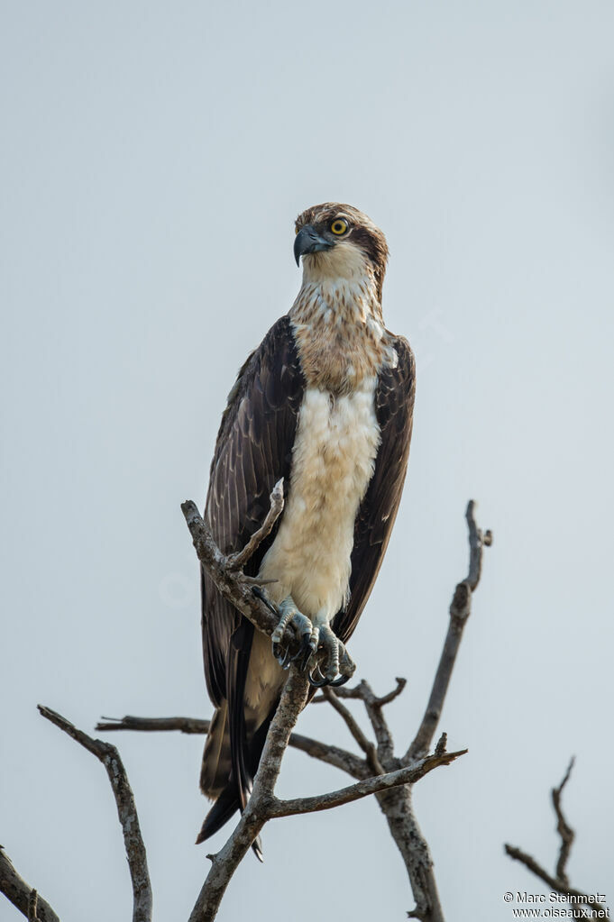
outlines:
{"label": "osprey's folded dark brown wing on the left side", "polygon": [[[288,316],[281,317],[242,366],[229,396],[211,463],[205,517],[220,550],[240,550],[262,525],[277,480],[286,490],[304,379]],[[269,536],[249,561],[257,573]],[[205,675],[212,702],[228,697],[230,636],[236,609],[203,573]],[[249,623],[249,622],[247,622]]]}

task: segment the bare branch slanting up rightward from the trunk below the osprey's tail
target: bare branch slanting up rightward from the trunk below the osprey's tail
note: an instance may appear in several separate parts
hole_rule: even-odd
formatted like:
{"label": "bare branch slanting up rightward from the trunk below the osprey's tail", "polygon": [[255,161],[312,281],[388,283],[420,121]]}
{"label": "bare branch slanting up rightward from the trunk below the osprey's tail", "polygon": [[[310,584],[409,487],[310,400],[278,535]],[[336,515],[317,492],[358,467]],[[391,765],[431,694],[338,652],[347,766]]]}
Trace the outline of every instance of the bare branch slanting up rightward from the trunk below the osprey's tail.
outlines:
{"label": "bare branch slanting up rightward from the trunk below the osprey's tail", "polygon": [[318,794],[313,798],[295,798],[293,800],[273,800],[270,805],[271,816],[292,816],[296,813],[313,813],[319,810],[331,810],[333,807],[340,807],[343,804],[352,803],[354,800],[369,797],[370,794],[377,794],[385,791],[390,787],[398,785],[415,784],[425,774],[428,774],[439,765],[449,765],[461,755],[465,755],[466,750],[458,752],[443,752],[440,755],[430,755],[425,759],[419,759],[413,765],[406,765],[405,768],[398,769],[396,772],[375,775],[371,778],[365,778],[355,785],[342,787],[338,791],[331,791],[330,794]]}

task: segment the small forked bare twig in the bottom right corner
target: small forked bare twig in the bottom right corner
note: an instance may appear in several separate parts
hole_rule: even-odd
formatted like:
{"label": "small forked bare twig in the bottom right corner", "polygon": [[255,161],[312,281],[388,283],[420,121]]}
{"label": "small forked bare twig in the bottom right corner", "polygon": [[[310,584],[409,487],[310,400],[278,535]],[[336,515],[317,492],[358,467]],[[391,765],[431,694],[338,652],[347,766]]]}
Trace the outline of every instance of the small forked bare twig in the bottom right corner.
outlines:
{"label": "small forked bare twig in the bottom right corner", "polygon": [[569,882],[569,877],[567,876],[567,862],[569,860],[573,839],[575,833],[573,832],[572,827],[569,825],[561,808],[561,794],[563,787],[567,784],[572,774],[573,762],[575,760],[572,758],[569,765],[567,766],[567,771],[565,772],[561,784],[558,787],[553,787],[550,791],[550,797],[552,799],[552,807],[557,818],[557,832],[561,837],[561,847],[559,850],[559,857],[557,859],[557,866],[554,871],[554,874],[549,874],[549,872],[544,869],[534,857],[528,855],[521,848],[517,848],[515,845],[505,845],[505,853],[509,857],[513,858],[514,861],[519,861],[521,864],[525,865],[525,868],[530,870],[532,874],[535,874],[540,881],[543,881],[550,890],[556,893],[561,893],[562,896],[568,898],[568,902],[573,905],[574,908],[580,908],[584,912],[585,918],[594,918],[597,914],[598,918],[608,918],[609,910],[605,904],[595,903],[594,897],[595,894],[584,893],[581,890],[576,890],[571,886]]}

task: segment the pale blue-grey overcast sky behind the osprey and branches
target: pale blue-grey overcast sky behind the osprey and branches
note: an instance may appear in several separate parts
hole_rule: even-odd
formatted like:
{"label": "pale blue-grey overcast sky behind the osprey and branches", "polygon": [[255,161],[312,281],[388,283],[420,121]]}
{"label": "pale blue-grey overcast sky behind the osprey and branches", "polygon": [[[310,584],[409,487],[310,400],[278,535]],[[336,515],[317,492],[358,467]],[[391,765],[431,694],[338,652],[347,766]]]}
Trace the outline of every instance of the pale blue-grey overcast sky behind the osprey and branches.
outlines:
{"label": "pale blue-grey overcast sky behind the osprey and branches", "polygon": [[[399,749],[470,497],[495,537],[442,721],[469,752],[415,793],[446,917],[507,922],[503,892],[546,892],[502,844],[553,869],[549,788],[573,753],[570,874],[614,904],[612,4],[1,6],[0,839],[19,871],[63,922],[131,915],[106,774],[36,704],[89,731],[210,715],[179,505],[202,504],[236,370],[298,290],[295,216],[337,200],[387,235],[384,317],[418,363],[406,491],[350,644],[376,691],[407,677]],[[299,728],[352,745],[322,706]],[[202,740],[110,739],[156,918],[185,919],[211,848],[193,844]],[[347,780],[289,752],[279,791]],[[221,922],[413,905],[372,799],[264,844]]]}

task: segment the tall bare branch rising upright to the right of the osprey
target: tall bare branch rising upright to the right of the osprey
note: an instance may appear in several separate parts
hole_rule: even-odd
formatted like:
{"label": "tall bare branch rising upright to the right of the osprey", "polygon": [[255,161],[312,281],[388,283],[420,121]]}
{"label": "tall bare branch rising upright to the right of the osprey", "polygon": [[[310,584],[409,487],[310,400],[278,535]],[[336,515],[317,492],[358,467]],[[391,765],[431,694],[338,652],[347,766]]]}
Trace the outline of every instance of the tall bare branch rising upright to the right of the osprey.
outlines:
{"label": "tall bare branch rising upright to the right of the osprey", "polygon": [[476,523],[476,502],[470,500],[466,507],[466,524],[469,532],[469,572],[455,588],[450,605],[450,623],[443,644],[442,656],[433,680],[431,697],[422,717],[418,733],[409,746],[403,762],[417,758],[431,749],[431,744],[443,710],[452,670],[455,666],[458,648],[463,637],[466,621],[471,612],[471,596],[478,588],[482,568],[482,552],[492,544],[492,533],[483,534]]}

